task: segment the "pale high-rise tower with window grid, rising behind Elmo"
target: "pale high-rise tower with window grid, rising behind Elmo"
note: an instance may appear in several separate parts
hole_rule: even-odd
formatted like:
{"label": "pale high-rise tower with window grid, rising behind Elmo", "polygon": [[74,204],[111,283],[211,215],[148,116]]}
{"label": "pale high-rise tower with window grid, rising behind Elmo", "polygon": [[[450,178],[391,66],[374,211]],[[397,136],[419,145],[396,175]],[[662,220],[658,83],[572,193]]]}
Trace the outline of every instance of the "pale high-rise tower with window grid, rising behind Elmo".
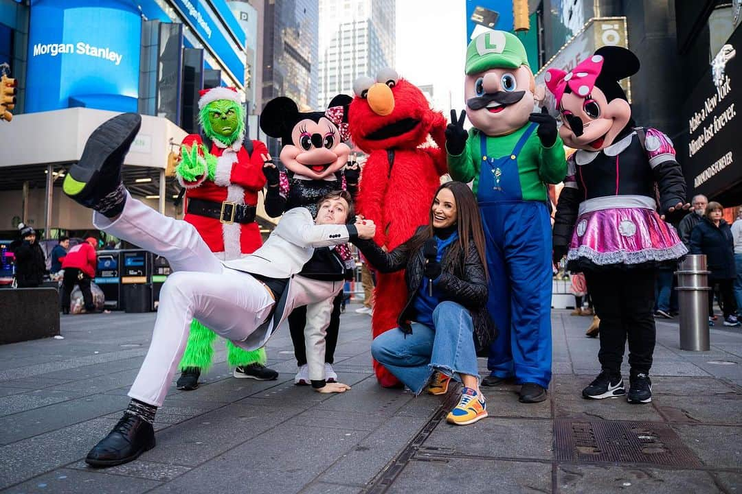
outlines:
{"label": "pale high-rise tower with window grid, rising behind Elmo", "polygon": [[394,67],[395,0],[320,0],[319,97],[352,95],[358,76]]}

